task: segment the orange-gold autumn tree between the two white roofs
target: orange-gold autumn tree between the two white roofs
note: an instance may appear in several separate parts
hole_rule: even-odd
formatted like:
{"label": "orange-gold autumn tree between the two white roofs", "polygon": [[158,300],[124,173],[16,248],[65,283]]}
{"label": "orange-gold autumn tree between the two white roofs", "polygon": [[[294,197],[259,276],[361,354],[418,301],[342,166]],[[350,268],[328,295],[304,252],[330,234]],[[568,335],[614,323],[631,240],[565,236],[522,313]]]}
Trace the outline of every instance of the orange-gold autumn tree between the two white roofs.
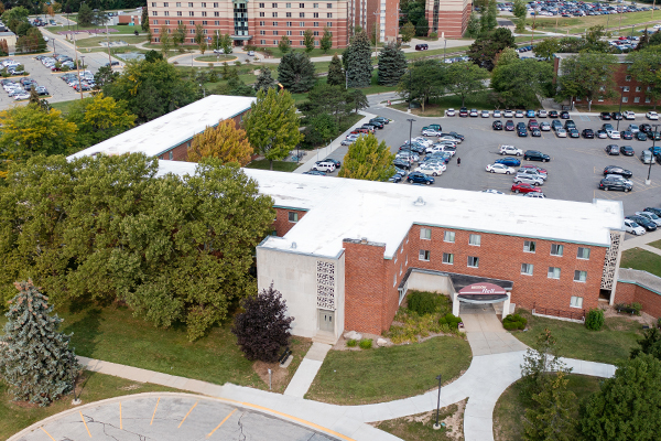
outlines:
{"label": "orange-gold autumn tree between the two white roofs", "polygon": [[234,119],[226,119],[193,138],[187,160],[199,162],[203,158],[216,158],[224,164],[236,162],[245,166],[250,162],[251,154],[252,147],[246,130],[237,128]]}

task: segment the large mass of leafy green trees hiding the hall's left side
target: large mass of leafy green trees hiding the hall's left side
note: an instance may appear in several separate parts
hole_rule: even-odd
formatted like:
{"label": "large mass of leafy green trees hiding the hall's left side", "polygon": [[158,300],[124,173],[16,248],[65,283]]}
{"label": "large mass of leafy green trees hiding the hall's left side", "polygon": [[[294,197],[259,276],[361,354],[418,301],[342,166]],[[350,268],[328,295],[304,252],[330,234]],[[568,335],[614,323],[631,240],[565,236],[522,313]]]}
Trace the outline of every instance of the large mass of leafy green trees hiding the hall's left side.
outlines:
{"label": "large mass of leafy green trees hiding the hall's left side", "polygon": [[272,201],[215,160],[193,176],[156,172],[142,154],[12,164],[0,187],[2,298],[32,278],[52,302],[126,302],[158,326],[184,323],[191,340],[226,319],[256,292],[249,269]]}

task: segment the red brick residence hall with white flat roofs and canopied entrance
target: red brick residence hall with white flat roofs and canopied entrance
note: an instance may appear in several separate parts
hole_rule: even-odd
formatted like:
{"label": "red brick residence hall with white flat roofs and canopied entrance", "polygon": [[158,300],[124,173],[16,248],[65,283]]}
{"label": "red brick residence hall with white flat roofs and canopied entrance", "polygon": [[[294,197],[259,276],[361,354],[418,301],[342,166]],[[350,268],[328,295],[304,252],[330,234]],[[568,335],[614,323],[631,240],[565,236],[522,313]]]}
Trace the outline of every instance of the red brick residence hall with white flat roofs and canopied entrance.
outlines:
{"label": "red brick residence hall with white flat roofs and canopied entrance", "polygon": [[[210,96],[75,157],[144,152],[161,159],[160,174],[191,174],[196,164],[176,161],[185,157],[176,149],[207,126],[239,118],[252,99]],[[296,335],[335,342],[345,330],[380,334],[409,290],[449,295],[455,314],[466,303],[492,303],[499,314],[520,305],[579,320],[615,302],[625,235],[619,202],[243,171],[277,211],[273,235],[256,250],[258,286],[273,282],[282,292]],[[618,301],[647,290],[626,279]],[[481,283],[500,295],[459,292]],[[651,284],[657,302],[661,283]]]}

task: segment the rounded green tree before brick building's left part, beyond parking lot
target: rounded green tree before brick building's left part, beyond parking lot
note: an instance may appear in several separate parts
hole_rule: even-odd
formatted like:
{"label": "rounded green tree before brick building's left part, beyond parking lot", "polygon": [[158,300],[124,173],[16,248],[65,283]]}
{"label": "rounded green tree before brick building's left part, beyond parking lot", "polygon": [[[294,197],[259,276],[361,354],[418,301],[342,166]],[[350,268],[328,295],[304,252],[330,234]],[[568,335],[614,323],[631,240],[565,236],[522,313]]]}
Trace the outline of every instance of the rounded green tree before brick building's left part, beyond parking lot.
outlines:
{"label": "rounded green tree before brick building's left part, beyond parking lot", "polygon": [[615,97],[616,66],[617,58],[611,54],[582,52],[567,56],[560,65],[557,95],[566,99],[586,98],[588,104],[597,97]]}

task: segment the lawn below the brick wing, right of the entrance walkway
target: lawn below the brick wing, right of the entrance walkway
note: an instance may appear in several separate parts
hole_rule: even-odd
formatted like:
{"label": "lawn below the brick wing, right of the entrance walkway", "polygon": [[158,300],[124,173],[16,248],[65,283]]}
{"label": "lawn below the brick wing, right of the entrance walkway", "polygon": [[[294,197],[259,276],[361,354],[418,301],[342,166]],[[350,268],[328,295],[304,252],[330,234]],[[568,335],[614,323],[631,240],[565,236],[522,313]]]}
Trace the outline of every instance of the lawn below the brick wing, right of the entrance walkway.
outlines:
{"label": "lawn below the brick wing, right of the entrance walkway", "polygon": [[615,364],[629,357],[641,335],[640,323],[627,319],[608,318],[600,331],[589,331],[579,323],[533,316],[523,310],[519,313],[528,319],[528,331],[514,331],[513,336],[532,346],[549,329],[557,340],[560,355],[568,358]]}

